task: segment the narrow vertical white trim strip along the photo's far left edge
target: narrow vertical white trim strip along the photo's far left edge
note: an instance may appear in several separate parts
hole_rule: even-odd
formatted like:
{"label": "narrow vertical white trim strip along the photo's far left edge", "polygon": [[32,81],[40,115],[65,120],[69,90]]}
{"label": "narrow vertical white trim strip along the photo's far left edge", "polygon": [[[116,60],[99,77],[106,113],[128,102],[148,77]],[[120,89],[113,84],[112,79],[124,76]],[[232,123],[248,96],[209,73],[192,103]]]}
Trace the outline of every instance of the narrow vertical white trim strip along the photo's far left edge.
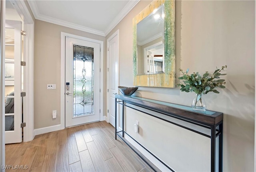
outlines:
{"label": "narrow vertical white trim strip along the photo's far left edge", "polygon": [[[5,118],[4,118],[4,34],[5,34],[5,1],[0,1],[0,165],[5,165]],[[2,172],[5,169],[1,169]]]}

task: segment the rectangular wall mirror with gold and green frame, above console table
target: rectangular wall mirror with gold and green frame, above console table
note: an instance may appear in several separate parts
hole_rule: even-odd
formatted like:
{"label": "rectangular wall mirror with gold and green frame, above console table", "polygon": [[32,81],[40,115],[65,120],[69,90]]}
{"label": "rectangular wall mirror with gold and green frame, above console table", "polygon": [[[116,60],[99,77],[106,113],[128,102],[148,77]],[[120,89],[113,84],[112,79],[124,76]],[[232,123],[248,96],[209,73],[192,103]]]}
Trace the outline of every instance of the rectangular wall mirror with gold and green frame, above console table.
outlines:
{"label": "rectangular wall mirror with gold and green frame, above console table", "polygon": [[175,2],[155,0],[133,19],[135,86],[175,87]]}

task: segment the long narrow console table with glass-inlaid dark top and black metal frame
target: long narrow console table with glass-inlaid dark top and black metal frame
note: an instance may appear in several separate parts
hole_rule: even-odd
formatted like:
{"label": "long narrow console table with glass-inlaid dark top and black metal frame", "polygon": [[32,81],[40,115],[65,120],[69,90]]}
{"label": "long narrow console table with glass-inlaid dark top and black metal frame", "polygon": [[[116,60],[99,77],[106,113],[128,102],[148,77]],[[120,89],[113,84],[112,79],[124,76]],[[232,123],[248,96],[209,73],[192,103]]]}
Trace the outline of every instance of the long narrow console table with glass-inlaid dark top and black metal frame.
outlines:
{"label": "long narrow console table with glass-inlaid dark top and black metal frame", "polygon": [[[196,132],[197,134],[201,134],[203,136],[206,136],[210,138],[211,140],[211,172],[215,172],[217,169],[219,172],[223,171],[223,166],[222,166],[222,157],[223,157],[223,113],[221,112],[214,112],[210,110],[206,110],[205,112],[199,112],[192,110],[191,107],[189,106],[183,106],[179,104],[172,104],[168,102],[161,102],[157,100],[152,100],[152,99],[147,99],[147,98],[141,98],[137,96],[124,96],[122,94],[116,94],[115,95],[115,100],[116,100],[116,120],[117,120],[117,104],[122,105],[122,130],[118,131],[117,130],[117,121],[115,121],[115,127],[116,127],[116,136],[119,136],[124,142],[124,134],[132,138],[135,142],[137,142],[140,146],[142,146],[146,151],[148,151],[152,156],[154,156],[156,159],[158,159],[160,162],[162,162],[158,157],[156,157],[150,150],[146,149],[142,144],[140,144],[138,141],[136,141],[132,136],[130,136],[126,131],[124,131],[124,106],[128,108],[132,108],[134,110],[138,110],[146,115],[153,116],[155,118],[158,118],[160,120],[164,120],[166,122],[169,122],[171,124],[174,124],[176,126],[185,128],[187,130],[190,130],[192,132]],[[135,105],[134,107],[129,106],[129,105]],[[147,110],[152,111],[152,113],[144,112],[141,109],[135,108],[135,107],[140,107],[144,108]],[[172,118],[176,118],[178,120],[186,121],[192,124],[195,124],[197,126],[201,126],[204,128],[207,128],[210,130],[210,135],[202,133],[198,130],[194,130],[192,128],[189,128],[187,126],[184,126],[182,124],[178,124],[177,122],[173,122],[171,120],[166,120],[164,118],[161,118],[159,116],[156,116],[154,112],[170,116]],[[120,136],[119,133],[122,133],[122,136]],[[115,139],[116,139],[115,136]],[[216,168],[216,138],[219,137],[218,139],[218,167]],[[126,144],[128,144],[126,142]],[[128,144],[128,146],[130,146]],[[132,146],[130,146],[132,148]],[[132,150],[134,150],[132,148]],[[136,150],[134,150],[136,152]],[[146,160],[138,153],[138,156],[142,158],[145,162]],[[150,164],[146,162],[149,166]],[[162,162],[167,168],[169,168],[171,171],[172,168],[170,168],[167,164]],[[153,170],[154,168],[150,166]]]}

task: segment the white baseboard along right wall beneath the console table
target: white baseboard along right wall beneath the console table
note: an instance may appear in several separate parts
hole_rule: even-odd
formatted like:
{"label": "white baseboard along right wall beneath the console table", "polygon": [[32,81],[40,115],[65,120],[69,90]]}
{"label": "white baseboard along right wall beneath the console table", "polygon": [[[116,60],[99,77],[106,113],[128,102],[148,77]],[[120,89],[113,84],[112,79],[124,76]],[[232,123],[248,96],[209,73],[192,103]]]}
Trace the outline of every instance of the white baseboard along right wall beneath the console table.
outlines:
{"label": "white baseboard along right wall beneath the console table", "polygon": [[164,166],[164,164],[162,164],[159,160],[157,160],[154,156],[152,156],[148,151],[146,151],[144,148],[142,148],[138,143],[136,143],[134,140],[132,140],[132,138],[130,138],[129,136],[126,136],[125,134],[124,134],[124,138],[130,144],[132,144],[136,149],[138,149],[138,151],[140,151],[144,156],[146,156],[146,158],[148,158],[148,160],[150,160],[150,162],[152,162],[157,168],[159,168],[159,170],[161,170],[163,172],[171,171],[169,168]]}

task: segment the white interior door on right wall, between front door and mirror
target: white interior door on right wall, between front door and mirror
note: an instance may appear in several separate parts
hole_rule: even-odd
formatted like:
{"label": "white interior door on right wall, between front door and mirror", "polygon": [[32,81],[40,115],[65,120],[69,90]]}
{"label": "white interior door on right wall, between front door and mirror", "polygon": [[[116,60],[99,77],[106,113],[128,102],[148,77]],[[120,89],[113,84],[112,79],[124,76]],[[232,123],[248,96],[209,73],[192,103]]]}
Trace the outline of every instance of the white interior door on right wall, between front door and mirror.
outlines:
{"label": "white interior door on right wall, between front door and mirror", "polygon": [[119,45],[118,31],[107,41],[108,44],[108,122],[115,126],[115,94],[118,93]]}

